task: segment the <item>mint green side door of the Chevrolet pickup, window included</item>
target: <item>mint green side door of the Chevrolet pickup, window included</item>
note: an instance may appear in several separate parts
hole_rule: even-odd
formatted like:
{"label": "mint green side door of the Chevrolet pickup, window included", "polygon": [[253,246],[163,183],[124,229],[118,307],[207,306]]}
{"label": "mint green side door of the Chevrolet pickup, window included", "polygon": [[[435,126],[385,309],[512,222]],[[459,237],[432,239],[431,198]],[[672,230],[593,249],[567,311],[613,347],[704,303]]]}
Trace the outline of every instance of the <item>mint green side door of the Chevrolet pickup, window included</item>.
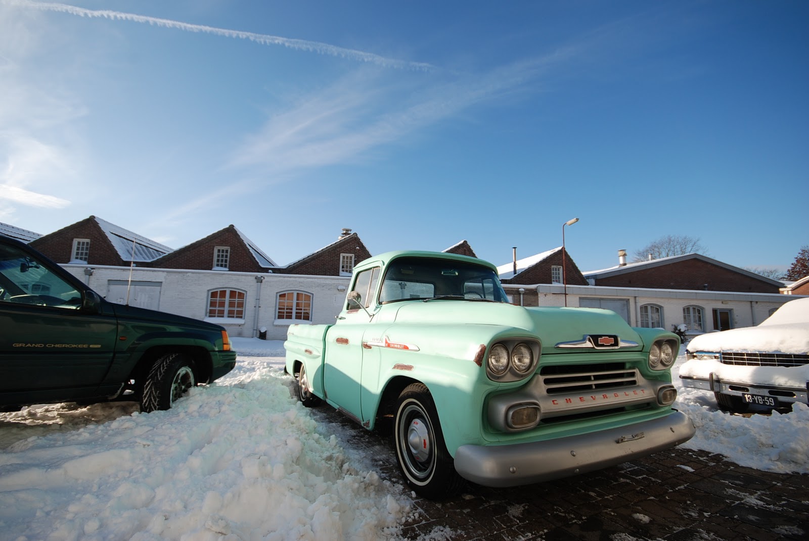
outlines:
{"label": "mint green side door of the Chevrolet pickup, window included", "polygon": [[[362,336],[373,325],[379,267],[369,268],[354,277],[351,292],[358,292],[359,303],[346,301],[337,323],[328,329],[323,370],[324,391],[329,404],[341,408],[359,421],[362,418]],[[350,293],[350,292],[349,292]]]}

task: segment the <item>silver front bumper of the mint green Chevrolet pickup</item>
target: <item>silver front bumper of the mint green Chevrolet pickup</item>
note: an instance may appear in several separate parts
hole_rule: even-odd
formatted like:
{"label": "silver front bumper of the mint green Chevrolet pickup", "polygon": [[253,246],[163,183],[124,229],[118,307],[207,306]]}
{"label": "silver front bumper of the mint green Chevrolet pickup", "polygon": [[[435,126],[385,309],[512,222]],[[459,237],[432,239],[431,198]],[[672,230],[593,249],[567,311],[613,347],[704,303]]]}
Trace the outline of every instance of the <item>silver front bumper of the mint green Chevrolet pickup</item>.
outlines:
{"label": "silver front bumper of the mint green Chevrolet pickup", "polygon": [[694,432],[688,416],[672,412],[652,421],[542,442],[464,445],[455,453],[455,471],[487,487],[539,483],[671,449],[688,442]]}

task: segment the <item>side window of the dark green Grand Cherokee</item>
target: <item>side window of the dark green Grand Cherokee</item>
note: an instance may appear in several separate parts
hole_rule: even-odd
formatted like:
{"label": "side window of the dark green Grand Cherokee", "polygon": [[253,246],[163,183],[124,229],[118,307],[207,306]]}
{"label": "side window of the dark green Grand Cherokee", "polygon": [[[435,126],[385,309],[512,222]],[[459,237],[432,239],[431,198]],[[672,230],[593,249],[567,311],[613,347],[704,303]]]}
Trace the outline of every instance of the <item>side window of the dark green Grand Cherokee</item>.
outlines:
{"label": "side window of the dark green Grand Cherokee", "polygon": [[82,294],[19,248],[0,245],[0,302],[78,309]]}

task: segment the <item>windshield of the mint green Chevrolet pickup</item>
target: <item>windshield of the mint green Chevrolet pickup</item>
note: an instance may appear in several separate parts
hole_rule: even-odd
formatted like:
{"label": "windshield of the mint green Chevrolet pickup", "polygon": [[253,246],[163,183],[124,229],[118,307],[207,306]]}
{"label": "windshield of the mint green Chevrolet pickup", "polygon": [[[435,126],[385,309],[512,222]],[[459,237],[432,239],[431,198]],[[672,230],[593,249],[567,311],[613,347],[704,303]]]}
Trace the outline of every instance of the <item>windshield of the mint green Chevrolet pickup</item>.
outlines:
{"label": "windshield of the mint green Chevrolet pickup", "polygon": [[403,257],[388,266],[379,302],[432,298],[508,302],[497,273],[482,265]]}

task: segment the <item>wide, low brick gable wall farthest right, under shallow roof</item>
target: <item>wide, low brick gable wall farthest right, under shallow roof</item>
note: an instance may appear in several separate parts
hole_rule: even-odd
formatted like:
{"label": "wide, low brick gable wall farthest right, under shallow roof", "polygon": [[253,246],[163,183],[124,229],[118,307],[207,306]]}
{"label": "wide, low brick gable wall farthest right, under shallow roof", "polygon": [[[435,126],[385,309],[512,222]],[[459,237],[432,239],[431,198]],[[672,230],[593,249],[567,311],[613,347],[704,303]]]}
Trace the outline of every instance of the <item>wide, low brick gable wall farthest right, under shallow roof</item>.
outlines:
{"label": "wide, low brick gable wall farthest right, under shallow roof", "polygon": [[[707,288],[705,288],[707,284]],[[684,260],[653,268],[639,269],[614,277],[598,278],[604,287],[641,287],[662,290],[738,291],[741,293],[778,293],[777,285],[735,273],[701,260]]]}

